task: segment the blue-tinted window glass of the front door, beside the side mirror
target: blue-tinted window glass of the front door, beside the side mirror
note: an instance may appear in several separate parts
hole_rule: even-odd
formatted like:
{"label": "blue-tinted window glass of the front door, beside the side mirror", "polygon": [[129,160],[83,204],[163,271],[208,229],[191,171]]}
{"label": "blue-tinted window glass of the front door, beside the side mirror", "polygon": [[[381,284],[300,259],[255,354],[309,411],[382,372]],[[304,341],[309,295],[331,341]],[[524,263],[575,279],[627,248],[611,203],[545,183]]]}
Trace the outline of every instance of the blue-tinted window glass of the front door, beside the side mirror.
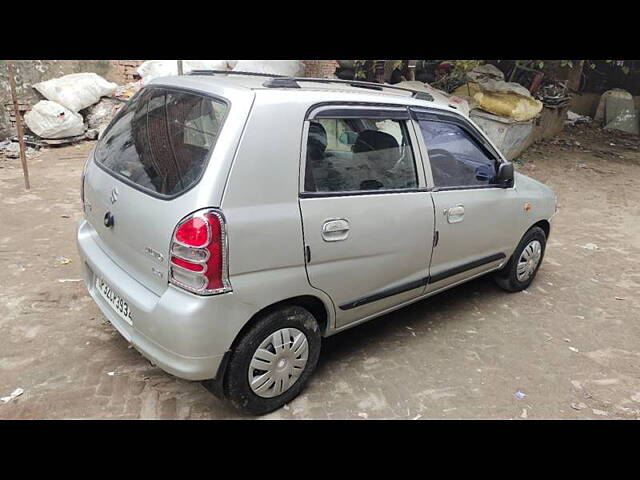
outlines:
{"label": "blue-tinted window glass of the front door, beside the side mirror", "polygon": [[497,162],[461,126],[420,120],[436,187],[482,186],[496,183]]}

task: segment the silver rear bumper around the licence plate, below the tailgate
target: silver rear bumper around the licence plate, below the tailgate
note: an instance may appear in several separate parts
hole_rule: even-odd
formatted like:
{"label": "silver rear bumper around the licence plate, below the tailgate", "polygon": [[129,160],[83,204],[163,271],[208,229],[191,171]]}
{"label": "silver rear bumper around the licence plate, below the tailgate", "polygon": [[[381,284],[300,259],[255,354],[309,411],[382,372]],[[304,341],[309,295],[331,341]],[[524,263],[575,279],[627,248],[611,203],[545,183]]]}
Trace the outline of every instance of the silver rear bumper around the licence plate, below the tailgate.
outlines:
{"label": "silver rear bumper around the licence plate, below the tailgate", "polygon": [[[161,296],[156,295],[120,268],[100,248],[96,235],[87,221],[80,222],[77,244],[84,280],[103,315],[136,350],[166,372],[187,380],[216,377],[233,341],[226,338],[225,315],[216,298],[198,297],[172,285]],[[96,275],[129,303],[133,325],[122,320],[100,296]]]}

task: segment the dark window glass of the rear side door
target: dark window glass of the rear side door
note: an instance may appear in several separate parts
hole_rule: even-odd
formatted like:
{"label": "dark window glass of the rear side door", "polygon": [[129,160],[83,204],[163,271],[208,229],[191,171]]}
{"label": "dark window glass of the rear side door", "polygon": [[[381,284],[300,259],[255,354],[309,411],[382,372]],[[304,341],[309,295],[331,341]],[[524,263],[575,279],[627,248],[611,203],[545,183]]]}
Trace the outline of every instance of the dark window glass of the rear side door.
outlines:
{"label": "dark window glass of the rear side door", "polygon": [[405,121],[321,118],[310,122],[306,192],[403,190],[417,186]]}

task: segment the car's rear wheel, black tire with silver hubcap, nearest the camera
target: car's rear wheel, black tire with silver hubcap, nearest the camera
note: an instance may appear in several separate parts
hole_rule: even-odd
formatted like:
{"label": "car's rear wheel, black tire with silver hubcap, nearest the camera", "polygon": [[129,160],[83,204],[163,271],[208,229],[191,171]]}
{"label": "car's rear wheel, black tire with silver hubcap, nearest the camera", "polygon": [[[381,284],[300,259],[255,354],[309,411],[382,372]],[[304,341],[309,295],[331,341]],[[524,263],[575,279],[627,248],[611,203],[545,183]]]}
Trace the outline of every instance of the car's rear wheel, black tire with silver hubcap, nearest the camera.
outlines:
{"label": "car's rear wheel, black tire with silver hubcap, nearest the camera", "polygon": [[[280,341],[275,342],[274,338]],[[264,415],[282,407],[298,396],[313,373],[320,356],[320,340],[318,322],[302,307],[286,306],[265,314],[231,353],[224,378],[225,396],[235,408],[250,415]],[[277,343],[281,345],[278,349]],[[304,360],[304,366],[300,367]],[[254,368],[252,361],[254,366],[270,365],[270,369]],[[259,393],[252,388],[250,378]]]}

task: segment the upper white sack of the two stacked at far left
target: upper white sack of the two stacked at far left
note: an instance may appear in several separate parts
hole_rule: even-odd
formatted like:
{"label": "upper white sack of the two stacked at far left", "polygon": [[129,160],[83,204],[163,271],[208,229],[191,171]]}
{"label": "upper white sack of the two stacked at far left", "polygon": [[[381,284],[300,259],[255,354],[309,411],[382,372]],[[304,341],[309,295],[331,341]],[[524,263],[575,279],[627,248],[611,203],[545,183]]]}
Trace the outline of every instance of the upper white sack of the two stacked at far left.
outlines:
{"label": "upper white sack of the two stacked at far left", "polygon": [[79,112],[100,101],[100,97],[112,95],[118,85],[96,73],[85,72],[36,83],[33,87],[47,100]]}

